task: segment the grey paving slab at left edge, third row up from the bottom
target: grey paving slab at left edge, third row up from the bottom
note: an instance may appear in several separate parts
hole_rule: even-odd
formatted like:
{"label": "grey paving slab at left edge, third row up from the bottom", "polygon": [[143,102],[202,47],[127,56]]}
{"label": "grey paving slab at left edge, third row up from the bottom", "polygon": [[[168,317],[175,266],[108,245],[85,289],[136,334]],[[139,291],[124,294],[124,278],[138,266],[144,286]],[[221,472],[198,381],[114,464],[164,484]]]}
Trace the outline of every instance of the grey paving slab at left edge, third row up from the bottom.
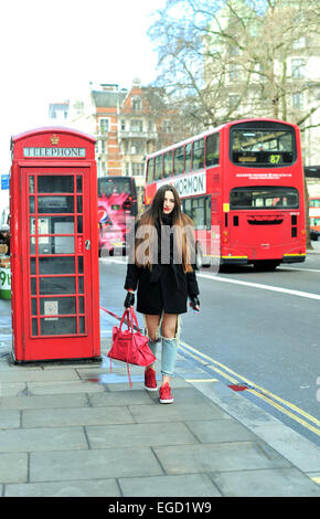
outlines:
{"label": "grey paving slab at left edge, third row up from the bottom", "polygon": [[0,452],[88,448],[83,427],[11,428],[0,431]]}

